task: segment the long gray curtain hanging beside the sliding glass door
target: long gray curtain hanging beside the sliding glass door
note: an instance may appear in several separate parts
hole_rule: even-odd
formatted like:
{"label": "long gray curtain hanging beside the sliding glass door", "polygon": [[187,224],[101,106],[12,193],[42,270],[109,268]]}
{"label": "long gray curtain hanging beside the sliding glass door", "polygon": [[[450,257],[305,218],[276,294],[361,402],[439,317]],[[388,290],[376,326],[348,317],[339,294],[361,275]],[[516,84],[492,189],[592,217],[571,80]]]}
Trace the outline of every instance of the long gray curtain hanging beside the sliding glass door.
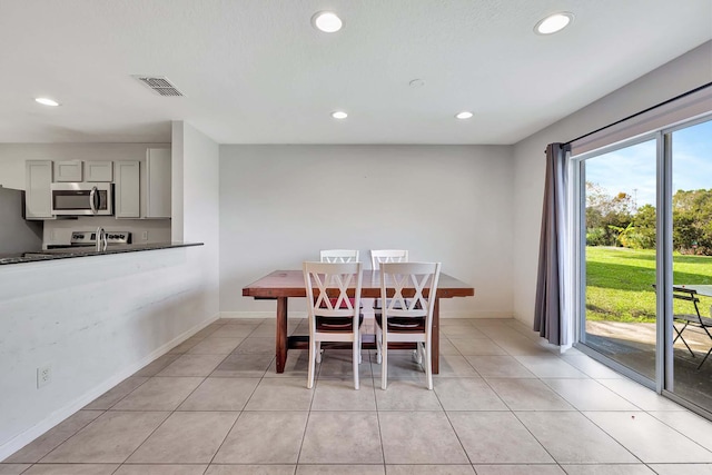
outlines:
{"label": "long gray curtain hanging beside the sliding glass door", "polygon": [[568,146],[550,144],[546,147],[546,181],[538,248],[536,307],[534,329],[554,345],[562,345],[566,181]]}

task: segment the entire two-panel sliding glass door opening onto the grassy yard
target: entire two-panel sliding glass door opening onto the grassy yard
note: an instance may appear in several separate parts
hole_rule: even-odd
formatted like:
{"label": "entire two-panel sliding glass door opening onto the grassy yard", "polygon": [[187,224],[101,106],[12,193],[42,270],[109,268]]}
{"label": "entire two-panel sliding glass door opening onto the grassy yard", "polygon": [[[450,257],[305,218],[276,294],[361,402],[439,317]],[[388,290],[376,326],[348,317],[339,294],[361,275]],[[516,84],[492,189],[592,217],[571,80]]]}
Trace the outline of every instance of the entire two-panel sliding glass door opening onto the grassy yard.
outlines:
{"label": "entire two-panel sliding glass door opening onto the grassy yard", "polygon": [[581,189],[580,343],[709,415],[712,120],[574,160]]}

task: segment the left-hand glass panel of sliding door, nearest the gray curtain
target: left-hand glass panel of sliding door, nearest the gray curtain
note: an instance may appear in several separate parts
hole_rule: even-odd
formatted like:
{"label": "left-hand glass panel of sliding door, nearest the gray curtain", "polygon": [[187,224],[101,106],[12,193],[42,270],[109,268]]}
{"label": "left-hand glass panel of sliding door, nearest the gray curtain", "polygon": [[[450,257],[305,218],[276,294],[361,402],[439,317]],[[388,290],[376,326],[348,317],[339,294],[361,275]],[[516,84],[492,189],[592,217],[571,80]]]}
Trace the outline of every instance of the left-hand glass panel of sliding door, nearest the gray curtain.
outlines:
{"label": "left-hand glass panel of sliding door, nearest the gray curtain", "polygon": [[[582,343],[655,377],[656,142],[585,160],[585,318]],[[582,239],[583,243],[583,239]]]}

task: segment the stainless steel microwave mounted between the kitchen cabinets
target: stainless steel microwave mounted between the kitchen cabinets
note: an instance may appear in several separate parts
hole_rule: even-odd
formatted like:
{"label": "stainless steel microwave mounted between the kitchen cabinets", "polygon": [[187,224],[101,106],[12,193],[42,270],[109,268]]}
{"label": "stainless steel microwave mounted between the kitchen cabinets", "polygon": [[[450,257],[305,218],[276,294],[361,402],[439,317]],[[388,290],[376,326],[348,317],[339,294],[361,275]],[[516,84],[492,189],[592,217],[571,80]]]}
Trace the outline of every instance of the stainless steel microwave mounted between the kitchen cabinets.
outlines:
{"label": "stainless steel microwave mounted between the kitchen cabinets", "polygon": [[52,215],[113,215],[113,188],[111,184],[52,184],[51,190]]}

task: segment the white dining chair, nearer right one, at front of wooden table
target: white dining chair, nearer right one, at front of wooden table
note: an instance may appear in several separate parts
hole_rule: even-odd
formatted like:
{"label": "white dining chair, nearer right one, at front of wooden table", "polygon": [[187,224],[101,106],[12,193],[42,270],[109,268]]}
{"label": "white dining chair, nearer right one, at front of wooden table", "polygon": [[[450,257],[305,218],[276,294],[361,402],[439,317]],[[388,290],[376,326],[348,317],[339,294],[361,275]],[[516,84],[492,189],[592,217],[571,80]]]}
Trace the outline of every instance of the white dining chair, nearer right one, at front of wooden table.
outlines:
{"label": "white dining chair, nearer right one, at front of wooden table", "polygon": [[[423,355],[427,388],[433,389],[433,307],[439,275],[439,263],[380,265],[380,298],[385,305],[382,313],[376,314],[376,347],[382,362],[383,389],[388,384],[388,344],[392,342],[416,344],[416,352]],[[388,289],[393,289],[392,294]]]}

